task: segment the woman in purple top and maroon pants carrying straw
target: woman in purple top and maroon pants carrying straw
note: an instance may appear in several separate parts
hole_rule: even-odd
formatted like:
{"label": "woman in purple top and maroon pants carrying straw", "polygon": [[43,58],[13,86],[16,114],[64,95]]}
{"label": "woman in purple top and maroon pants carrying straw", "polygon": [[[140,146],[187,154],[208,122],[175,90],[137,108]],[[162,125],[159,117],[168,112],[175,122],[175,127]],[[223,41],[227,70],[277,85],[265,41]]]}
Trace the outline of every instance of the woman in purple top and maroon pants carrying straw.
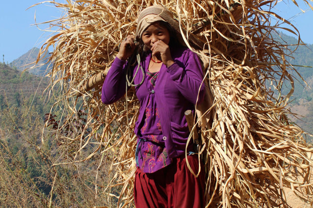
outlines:
{"label": "woman in purple top and maroon pants carrying straw", "polygon": [[[194,150],[192,144],[186,146],[190,132],[184,116],[204,97],[201,62],[179,43],[177,22],[163,6],[144,9],[137,24],[135,37],[128,36],[121,43],[102,88],[103,103],[114,103],[125,94],[125,71],[131,70],[140,101],[134,129],[135,206],[204,207],[204,171],[196,178],[186,165],[185,151]],[[134,51],[141,58],[136,64],[127,62]],[[198,156],[189,154],[187,158],[198,172]]]}

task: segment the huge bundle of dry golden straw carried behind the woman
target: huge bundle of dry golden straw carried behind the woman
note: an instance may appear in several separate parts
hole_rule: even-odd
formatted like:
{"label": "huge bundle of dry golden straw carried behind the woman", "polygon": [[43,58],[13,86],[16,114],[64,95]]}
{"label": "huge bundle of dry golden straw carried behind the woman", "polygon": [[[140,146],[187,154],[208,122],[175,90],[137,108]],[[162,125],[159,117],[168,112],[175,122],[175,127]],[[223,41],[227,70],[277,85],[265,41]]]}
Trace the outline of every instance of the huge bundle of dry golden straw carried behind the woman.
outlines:
{"label": "huge bundle of dry golden straw carried behind the woman", "polygon": [[[115,104],[101,104],[100,86],[119,43],[134,33],[137,14],[156,3],[176,15],[185,42],[203,61],[207,95],[196,106],[195,125],[201,127],[207,205],[288,206],[283,187],[312,202],[313,148],[289,123],[285,107],[293,92],[293,68],[285,59],[289,51],[273,36],[279,24],[269,22],[276,17],[290,24],[270,11],[276,0],[51,3],[64,8],[65,16],[51,23],[59,30],[42,46],[38,60],[54,46],[51,85],[58,86],[57,104],[64,110],[59,145],[68,162],[100,152],[101,166],[110,155],[115,170],[110,186],[122,186],[121,206],[132,202],[139,104],[132,93]],[[291,85],[287,95],[281,93],[283,83]],[[93,151],[86,154],[88,146]]]}

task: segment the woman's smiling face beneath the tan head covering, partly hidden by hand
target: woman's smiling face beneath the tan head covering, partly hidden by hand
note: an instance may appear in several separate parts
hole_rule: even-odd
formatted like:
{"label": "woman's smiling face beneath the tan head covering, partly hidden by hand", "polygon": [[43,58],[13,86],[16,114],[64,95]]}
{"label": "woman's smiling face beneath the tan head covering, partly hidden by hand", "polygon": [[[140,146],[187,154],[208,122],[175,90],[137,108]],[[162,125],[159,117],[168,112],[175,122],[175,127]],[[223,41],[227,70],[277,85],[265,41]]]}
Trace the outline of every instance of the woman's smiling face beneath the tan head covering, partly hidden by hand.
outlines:
{"label": "woman's smiling face beneath the tan head covering, partly hidden by hand", "polygon": [[158,40],[161,40],[168,45],[170,43],[170,33],[165,26],[160,24],[159,21],[156,21],[150,24],[150,26],[142,33],[141,40],[149,49],[151,49],[153,44]]}

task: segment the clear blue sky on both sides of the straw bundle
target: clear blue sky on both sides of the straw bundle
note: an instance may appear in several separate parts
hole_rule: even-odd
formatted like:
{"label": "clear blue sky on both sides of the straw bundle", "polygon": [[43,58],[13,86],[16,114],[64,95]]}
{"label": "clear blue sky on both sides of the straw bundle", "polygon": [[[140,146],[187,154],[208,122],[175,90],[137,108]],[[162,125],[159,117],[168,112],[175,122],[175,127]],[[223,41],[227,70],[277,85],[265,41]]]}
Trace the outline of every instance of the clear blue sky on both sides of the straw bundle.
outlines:
{"label": "clear blue sky on both sides of the straw bundle", "polygon": [[[64,0],[56,0],[63,2]],[[310,0],[309,0],[310,1]],[[44,3],[26,10],[33,4],[42,0],[1,0],[0,4],[0,61],[4,55],[5,62],[12,62],[33,47],[40,47],[49,37],[50,33],[41,31],[48,25],[32,26],[37,22],[56,19],[62,15],[62,11]],[[310,1],[313,4],[313,1]],[[281,1],[273,11],[290,20],[300,31],[301,39],[313,44],[313,11],[302,1],[298,1],[303,13],[292,1]],[[291,35],[291,34],[288,34]]]}

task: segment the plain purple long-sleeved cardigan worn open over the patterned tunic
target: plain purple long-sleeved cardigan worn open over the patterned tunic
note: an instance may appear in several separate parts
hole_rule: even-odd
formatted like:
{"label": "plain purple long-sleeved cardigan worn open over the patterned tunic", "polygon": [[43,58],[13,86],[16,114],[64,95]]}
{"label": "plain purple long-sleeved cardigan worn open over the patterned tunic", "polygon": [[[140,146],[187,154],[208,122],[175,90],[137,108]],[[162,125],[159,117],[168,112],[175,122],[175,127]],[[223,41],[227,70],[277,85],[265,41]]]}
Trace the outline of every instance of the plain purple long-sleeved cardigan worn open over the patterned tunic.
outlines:
{"label": "plain purple long-sleeved cardigan worn open over the patterned tunic", "polygon": [[[155,98],[153,102],[156,102],[158,108],[162,139],[168,157],[176,158],[185,153],[190,133],[184,112],[194,110],[194,105],[203,100],[205,86],[202,83],[201,62],[194,52],[185,47],[178,47],[171,48],[171,55],[175,63],[169,67],[162,64],[153,90],[148,87],[147,82],[135,86],[140,109],[134,132],[138,138],[141,136],[140,126],[143,124],[145,110],[150,100],[149,95],[153,93]],[[141,66],[146,72],[150,58],[151,53],[148,53],[141,61]],[[104,104],[112,104],[125,95],[126,67],[127,62],[115,58],[102,86],[101,99]],[[134,74],[137,67],[137,64],[132,67]],[[140,83],[142,77],[141,70],[138,70],[134,84]]]}

